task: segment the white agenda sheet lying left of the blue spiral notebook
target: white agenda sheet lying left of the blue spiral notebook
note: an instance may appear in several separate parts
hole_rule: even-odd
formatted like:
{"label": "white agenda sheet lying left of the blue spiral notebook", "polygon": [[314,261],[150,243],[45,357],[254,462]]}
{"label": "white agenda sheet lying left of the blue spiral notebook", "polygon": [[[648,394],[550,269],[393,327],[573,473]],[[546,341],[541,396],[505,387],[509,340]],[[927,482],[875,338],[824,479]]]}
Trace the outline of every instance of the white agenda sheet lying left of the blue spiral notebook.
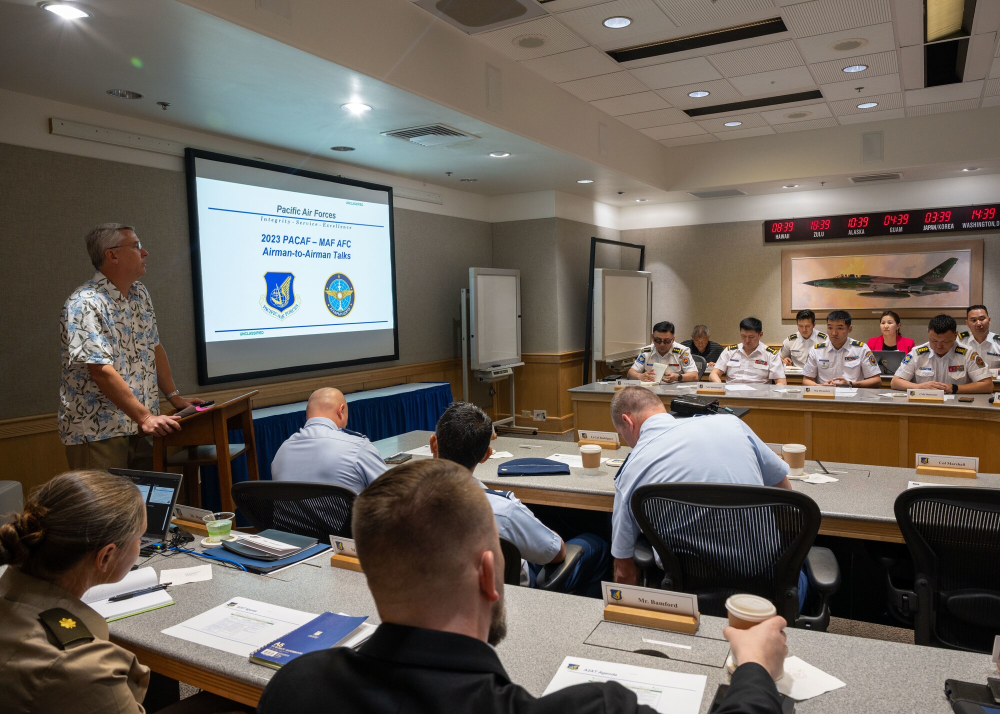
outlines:
{"label": "white agenda sheet lying left of the blue spiral notebook", "polygon": [[312,612],[234,597],[190,620],[168,627],[163,634],[249,657],[254,650],[315,617],[318,615]]}

